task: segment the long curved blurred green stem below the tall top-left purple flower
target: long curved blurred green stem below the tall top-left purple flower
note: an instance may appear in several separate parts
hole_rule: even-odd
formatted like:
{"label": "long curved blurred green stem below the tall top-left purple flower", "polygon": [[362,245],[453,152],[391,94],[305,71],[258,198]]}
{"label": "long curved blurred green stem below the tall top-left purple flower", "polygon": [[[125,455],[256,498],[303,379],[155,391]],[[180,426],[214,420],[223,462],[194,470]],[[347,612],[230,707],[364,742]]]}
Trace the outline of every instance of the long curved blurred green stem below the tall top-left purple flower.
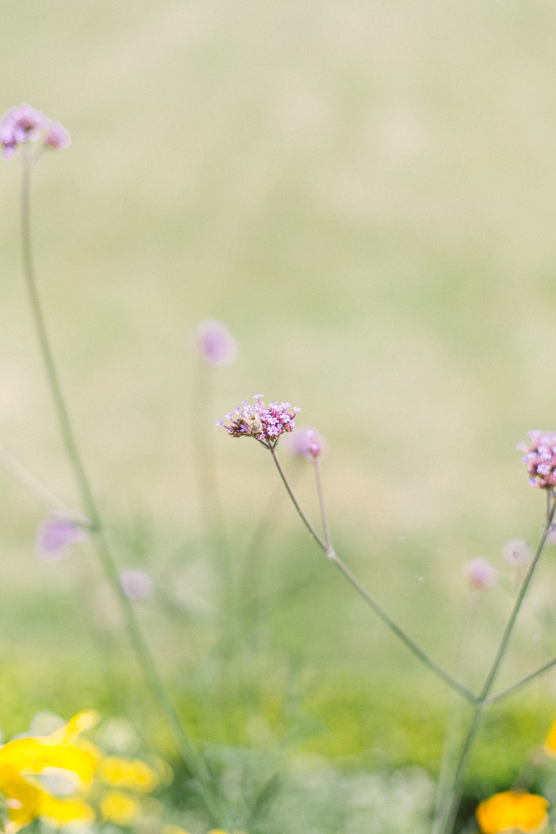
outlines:
{"label": "long curved blurred green stem below the tall top-left purple flower", "polygon": [[89,485],[88,476],[85,472],[81,456],[79,455],[78,445],[75,440],[75,435],[73,434],[68,409],[66,407],[62,387],[58,379],[58,371],[56,369],[56,364],[54,363],[53,352],[50,347],[47,328],[44,321],[43,309],[38,295],[35,270],[33,267],[33,249],[31,241],[30,202],[33,158],[31,154],[28,153],[28,146],[23,146],[23,150],[27,152],[23,154],[23,188],[21,201],[23,273],[28,289],[33,322],[38,335],[38,343],[41,354],[43,355],[48,384],[53,396],[54,408],[58,416],[63,445],[66,449],[68,459],[72,465],[73,473],[78,483],[85,512],[91,522],[91,530],[97,545],[101,564],[103,565],[108,582],[112,586],[112,589],[118,598],[123,613],[123,619],[127,627],[128,636],[138,658],[139,665],[143,670],[148,686],[150,686],[153,691],[153,695],[158,702],[158,706],[162,711],[163,716],[168,722],[168,727],[172,732],[174,741],[176,742],[178,750],[183,757],[183,761],[185,761],[186,766],[188,766],[188,770],[199,781],[199,791],[203,795],[203,799],[208,807],[209,813],[213,816],[214,821],[219,823],[222,820],[222,814],[218,809],[218,803],[211,795],[211,791],[208,791],[208,788],[203,785],[203,773],[201,772],[199,766],[198,753],[193,746],[193,740],[189,735],[188,730],[183,725],[183,721],[178,715],[178,711],[173,704],[173,700],[169,695],[166,685],[158,673],[158,668],[153,661],[151,651],[149,650],[143,637],[143,632],[139,626],[133,605],[124,594],[122,586],[120,585],[118,567],[113,558],[110,546],[108,545],[108,540],[103,530],[98,508],[93,498],[93,492]]}

